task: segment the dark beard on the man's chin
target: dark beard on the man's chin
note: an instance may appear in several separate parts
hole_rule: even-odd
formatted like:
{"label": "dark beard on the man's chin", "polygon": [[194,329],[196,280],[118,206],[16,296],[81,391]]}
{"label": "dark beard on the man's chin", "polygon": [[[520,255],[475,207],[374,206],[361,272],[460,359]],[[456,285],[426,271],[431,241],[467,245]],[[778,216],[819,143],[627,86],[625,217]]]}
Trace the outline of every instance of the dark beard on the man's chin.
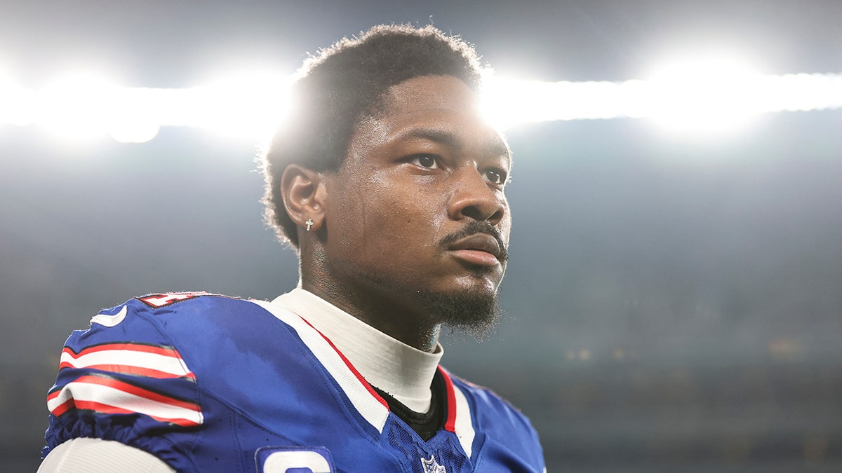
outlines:
{"label": "dark beard on the man's chin", "polygon": [[493,294],[477,291],[434,292],[420,290],[418,300],[430,317],[461,332],[483,341],[495,332],[502,318],[497,300]]}

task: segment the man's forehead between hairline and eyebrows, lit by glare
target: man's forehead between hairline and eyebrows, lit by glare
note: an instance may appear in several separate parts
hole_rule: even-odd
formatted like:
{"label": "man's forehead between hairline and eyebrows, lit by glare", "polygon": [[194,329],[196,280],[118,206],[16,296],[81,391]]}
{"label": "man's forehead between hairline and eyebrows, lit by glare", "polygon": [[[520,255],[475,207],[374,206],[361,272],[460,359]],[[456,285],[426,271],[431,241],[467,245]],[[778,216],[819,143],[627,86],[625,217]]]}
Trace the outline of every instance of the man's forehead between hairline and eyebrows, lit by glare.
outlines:
{"label": "man's forehead between hairline and eyebrows, lit by glare", "polygon": [[479,105],[477,93],[456,77],[414,77],[389,88],[376,112],[360,123],[357,137],[370,144],[429,139],[509,157],[509,147]]}

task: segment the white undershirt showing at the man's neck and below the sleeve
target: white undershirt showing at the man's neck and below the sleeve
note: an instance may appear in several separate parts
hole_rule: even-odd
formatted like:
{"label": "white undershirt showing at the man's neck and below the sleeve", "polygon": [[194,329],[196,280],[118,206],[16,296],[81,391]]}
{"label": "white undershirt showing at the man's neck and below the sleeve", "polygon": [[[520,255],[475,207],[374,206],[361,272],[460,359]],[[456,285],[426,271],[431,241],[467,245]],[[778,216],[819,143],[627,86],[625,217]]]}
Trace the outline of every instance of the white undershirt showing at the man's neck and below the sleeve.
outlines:
{"label": "white undershirt showing at the man's neck and below the sleeve", "polygon": [[[272,301],[302,316],[345,355],[371,385],[376,385],[415,412],[427,412],[430,385],[445,353],[439,343],[432,353],[410,347],[339,309],[327,300],[297,288]],[[172,473],[163,460],[113,440],[72,438],[56,446],[39,473]]]}

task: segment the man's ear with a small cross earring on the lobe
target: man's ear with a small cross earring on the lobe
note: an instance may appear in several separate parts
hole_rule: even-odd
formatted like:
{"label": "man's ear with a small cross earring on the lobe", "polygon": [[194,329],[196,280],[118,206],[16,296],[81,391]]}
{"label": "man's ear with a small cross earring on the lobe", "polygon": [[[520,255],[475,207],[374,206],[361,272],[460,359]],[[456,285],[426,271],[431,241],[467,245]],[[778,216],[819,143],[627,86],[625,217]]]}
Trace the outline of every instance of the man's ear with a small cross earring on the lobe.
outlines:
{"label": "man's ear with a small cross earring on the lobe", "polygon": [[311,231],[322,227],[325,198],[328,195],[322,173],[290,164],[280,178],[280,194],[284,199],[286,213],[296,226],[303,228],[312,219]]}

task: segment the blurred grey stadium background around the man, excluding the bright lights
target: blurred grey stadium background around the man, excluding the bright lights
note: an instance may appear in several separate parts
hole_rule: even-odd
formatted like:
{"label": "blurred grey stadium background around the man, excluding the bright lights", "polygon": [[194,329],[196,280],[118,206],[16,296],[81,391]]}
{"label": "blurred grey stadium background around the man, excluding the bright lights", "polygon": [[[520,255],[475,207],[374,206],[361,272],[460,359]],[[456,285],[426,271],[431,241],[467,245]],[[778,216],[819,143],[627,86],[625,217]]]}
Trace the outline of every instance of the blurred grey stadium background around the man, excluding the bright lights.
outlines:
{"label": "blurred grey stadium background around the man, excluding the bright lights", "polygon": [[[184,88],[373,24],[430,21],[500,74],[640,78],[711,45],[763,72],[842,72],[836,1],[24,2],[0,5],[0,65],[38,88],[107,65]],[[550,471],[842,470],[842,110],[736,133],[648,120],[508,131],[507,311],[443,364],[533,421]],[[70,144],[0,125],[0,470],[37,468],[68,333],[135,295],[271,299],[296,258],[261,220],[252,141],[163,128]]]}

